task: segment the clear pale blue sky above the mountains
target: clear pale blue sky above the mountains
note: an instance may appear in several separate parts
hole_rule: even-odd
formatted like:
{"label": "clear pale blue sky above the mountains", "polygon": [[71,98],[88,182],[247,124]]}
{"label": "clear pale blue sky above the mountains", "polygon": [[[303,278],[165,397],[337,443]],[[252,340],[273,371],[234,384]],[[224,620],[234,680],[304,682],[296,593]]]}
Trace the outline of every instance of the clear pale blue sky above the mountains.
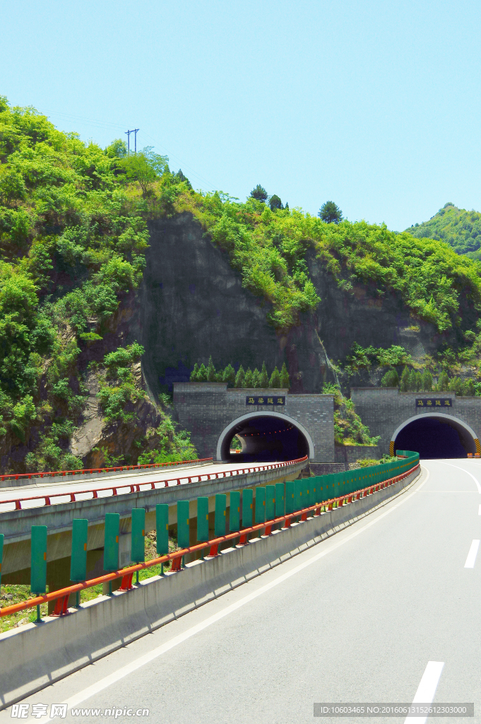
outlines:
{"label": "clear pale blue sky above the mountains", "polygon": [[481,5],[0,0],[0,93],[195,188],[401,230],[481,210]]}

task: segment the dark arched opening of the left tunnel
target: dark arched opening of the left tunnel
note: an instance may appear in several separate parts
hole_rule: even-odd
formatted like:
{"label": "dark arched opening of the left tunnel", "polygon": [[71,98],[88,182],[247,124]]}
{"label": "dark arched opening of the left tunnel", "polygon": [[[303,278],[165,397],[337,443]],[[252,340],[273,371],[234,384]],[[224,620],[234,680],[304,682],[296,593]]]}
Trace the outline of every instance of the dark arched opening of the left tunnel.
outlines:
{"label": "dark arched opening of the left tunnel", "polygon": [[221,458],[229,462],[274,463],[305,455],[309,455],[309,443],[297,426],[268,415],[239,421],[221,445]]}

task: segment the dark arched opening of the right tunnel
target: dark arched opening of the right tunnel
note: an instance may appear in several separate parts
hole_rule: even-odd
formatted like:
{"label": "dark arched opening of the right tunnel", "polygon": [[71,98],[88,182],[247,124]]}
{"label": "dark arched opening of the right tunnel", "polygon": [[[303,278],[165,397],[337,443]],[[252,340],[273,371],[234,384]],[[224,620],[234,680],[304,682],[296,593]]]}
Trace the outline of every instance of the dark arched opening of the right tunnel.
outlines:
{"label": "dark arched opening of the right tunnel", "polygon": [[424,460],[466,458],[476,452],[476,445],[455,418],[419,416],[396,435],[394,450],[413,450]]}

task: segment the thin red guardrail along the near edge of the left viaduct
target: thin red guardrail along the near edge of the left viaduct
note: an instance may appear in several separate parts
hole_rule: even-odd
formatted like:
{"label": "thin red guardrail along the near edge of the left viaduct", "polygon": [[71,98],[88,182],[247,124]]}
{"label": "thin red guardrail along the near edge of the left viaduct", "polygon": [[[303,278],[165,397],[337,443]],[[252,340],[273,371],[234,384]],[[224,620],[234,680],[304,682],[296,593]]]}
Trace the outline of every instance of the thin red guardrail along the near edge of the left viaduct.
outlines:
{"label": "thin red guardrail along the near edge of the left viaduct", "polygon": [[[204,460],[212,460],[212,458],[204,458]],[[298,460],[289,460],[287,463],[267,463],[266,465],[261,466],[248,466],[247,468],[239,468],[239,470],[228,470],[221,473],[205,473],[205,476],[207,476],[208,480],[216,480],[218,478],[229,478],[234,475],[243,475],[245,473],[256,473],[261,472],[264,470],[277,470],[278,468],[286,468],[292,465],[296,465],[297,463],[303,463],[305,460],[307,460],[307,455],[304,458],[299,458]],[[195,462],[195,461],[194,461]],[[199,460],[199,462],[202,462]],[[48,495],[30,495],[30,497],[15,497],[11,498],[10,500],[0,500],[0,506],[7,505],[7,503],[14,502],[15,508],[14,510],[31,510],[31,508],[26,509],[22,508],[22,502],[25,500],[44,500],[43,506],[45,505],[52,505],[51,504],[51,498],[55,497],[69,497],[70,500],[67,502],[77,502],[76,495],[85,495],[87,493],[92,493],[92,498],[88,498],[87,500],[94,500],[98,497],[98,492],[101,492],[103,490],[111,490],[112,495],[111,496],[101,496],[101,497],[112,497],[114,495],[118,495],[117,490],[125,490],[125,493],[135,493],[140,492],[141,486],[148,486],[147,489],[154,490],[156,489],[156,484],[158,483],[164,483],[163,487],[168,488],[169,483],[174,483],[176,485],[181,484],[181,480],[187,480],[187,483],[192,482],[192,478],[196,478],[195,482],[200,482],[200,479],[203,478],[204,475],[184,475],[182,478],[170,478],[166,480],[154,480],[150,481],[150,483],[133,483],[133,484],[125,484],[122,485],[116,484],[116,485],[108,485],[104,488],[95,488],[95,489],[88,489],[88,490],[75,490],[75,492],[59,492],[59,493],[51,493]],[[128,490],[127,490],[128,488]],[[32,506],[32,508],[42,508],[41,505],[38,506]],[[11,510],[0,510],[1,513],[11,513]]]}

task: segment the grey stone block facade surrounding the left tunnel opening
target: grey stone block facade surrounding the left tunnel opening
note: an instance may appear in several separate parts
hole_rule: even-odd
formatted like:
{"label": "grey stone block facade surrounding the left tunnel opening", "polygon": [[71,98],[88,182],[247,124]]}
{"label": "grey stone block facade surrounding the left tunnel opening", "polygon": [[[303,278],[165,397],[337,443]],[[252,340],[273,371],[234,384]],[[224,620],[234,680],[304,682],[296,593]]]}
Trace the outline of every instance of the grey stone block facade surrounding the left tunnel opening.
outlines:
{"label": "grey stone block facade surrounding the left tunnel opening", "polygon": [[[289,390],[275,392],[285,396],[286,404],[275,406],[273,411],[307,431],[312,442],[312,461],[333,463],[333,395],[289,395]],[[224,382],[174,382],[176,421],[190,431],[200,458],[220,459],[219,439],[234,420],[251,413],[269,415],[271,408],[247,405],[248,395],[272,396],[273,390],[232,389]]]}

